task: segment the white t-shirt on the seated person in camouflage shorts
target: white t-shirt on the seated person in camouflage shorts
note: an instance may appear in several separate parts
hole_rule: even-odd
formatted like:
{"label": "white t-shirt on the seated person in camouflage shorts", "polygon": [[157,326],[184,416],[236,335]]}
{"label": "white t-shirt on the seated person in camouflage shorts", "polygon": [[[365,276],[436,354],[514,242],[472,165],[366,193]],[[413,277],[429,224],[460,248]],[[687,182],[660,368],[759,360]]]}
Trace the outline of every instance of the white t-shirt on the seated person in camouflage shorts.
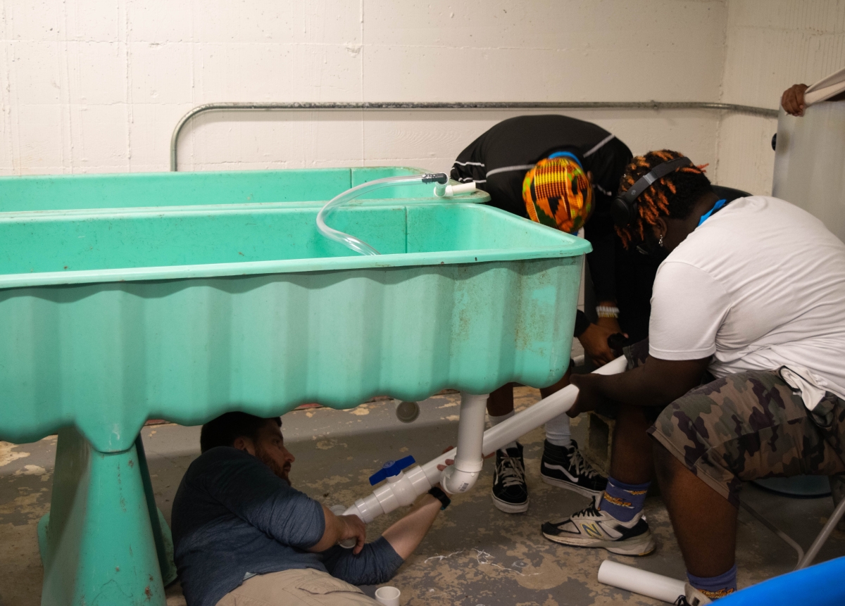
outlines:
{"label": "white t-shirt on the seated person in camouflage shorts", "polygon": [[657,269],[649,353],[713,355],[717,378],[807,369],[845,398],[845,244],[776,197],[734,200]]}

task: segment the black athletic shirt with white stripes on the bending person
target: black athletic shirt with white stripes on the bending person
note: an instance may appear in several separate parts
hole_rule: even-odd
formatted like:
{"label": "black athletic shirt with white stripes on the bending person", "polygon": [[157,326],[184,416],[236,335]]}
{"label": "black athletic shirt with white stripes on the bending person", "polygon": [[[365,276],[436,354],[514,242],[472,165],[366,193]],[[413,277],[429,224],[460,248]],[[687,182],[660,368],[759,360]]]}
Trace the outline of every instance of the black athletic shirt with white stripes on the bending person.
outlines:
{"label": "black athletic shirt with white stripes on the bending person", "polygon": [[[631,160],[628,146],[602,127],[568,116],[516,116],[499,122],[469,144],[455,160],[455,181],[476,181],[490,194],[491,206],[528,218],[522,181],[539,160],[564,148],[577,148],[592,172],[593,211],[584,225],[592,245],[587,255],[597,300],[616,300],[615,243],[610,203]],[[583,317],[575,325],[579,335]],[[581,324],[581,326],[579,326]]]}

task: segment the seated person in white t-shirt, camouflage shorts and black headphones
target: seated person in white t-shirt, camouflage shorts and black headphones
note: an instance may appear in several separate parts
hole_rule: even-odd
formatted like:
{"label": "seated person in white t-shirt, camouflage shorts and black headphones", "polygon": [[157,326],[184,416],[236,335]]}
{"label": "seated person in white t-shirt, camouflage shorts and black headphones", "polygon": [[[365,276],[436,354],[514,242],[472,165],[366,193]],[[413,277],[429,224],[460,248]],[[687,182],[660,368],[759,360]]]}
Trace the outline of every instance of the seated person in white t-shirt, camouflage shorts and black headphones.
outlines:
{"label": "seated person in white t-shirt, camouflage shorts and black headphones", "polygon": [[[621,190],[682,157],[635,158]],[[627,349],[629,371],[572,381],[581,392],[571,415],[619,403],[608,488],[542,530],[562,544],[646,555],[654,542],[642,506],[657,467],[689,601],[708,603],[736,589],[745,481],[845,472],[845,244],[774,197],[724,205],[701,170],[680,164],[635,187],[620,230],[670,253],[648,342]]]}

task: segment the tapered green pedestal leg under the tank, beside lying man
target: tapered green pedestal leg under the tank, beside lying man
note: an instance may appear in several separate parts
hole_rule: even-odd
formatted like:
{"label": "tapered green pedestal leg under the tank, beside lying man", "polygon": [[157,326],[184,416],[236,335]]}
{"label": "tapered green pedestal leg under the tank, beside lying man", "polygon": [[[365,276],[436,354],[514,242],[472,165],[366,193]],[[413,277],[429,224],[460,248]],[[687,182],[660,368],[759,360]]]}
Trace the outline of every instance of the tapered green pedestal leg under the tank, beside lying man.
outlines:
{"label": "tapered green pedestal leg under the tank, beside lying man", "polygon": [[97,452],[74,428],[59,431],[50,513],[38,524],[42,606],[165,606],[172,539],[152,496],[140,436],[127,451]]}

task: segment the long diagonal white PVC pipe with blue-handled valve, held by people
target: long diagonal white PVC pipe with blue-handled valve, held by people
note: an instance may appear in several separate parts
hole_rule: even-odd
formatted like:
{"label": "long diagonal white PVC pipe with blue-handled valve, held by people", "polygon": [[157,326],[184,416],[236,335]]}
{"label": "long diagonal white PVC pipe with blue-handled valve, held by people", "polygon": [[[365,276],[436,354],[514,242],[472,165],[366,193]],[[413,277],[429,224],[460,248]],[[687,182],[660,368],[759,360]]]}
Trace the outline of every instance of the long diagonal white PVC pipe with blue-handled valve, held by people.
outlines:
{"label": "long diagonal white PVC pipe with blue-handled valve, held by people", "polygon": [[[626,365],[627,360],[624,356],[619,356],[616,360],[603,365],[595,373],[597,375],[616,375],[623,372]],[[510,442],[519,439],[559,414],[564,414],[575,403],[577,396],[578,387],[568,385],[558,392],[554,392],[548,398],[543,398],[533,406],[523,410],[520,414],[515,414],[499,425],[491,427],[483,435],[482,456],[486,457],[491,452],[496,452],[505,444],[510,444]],[[463,414],[461,414],[462,420]],[[458,431],[459,433],[461,431],[460,425]],[[393,482],[386,482],[374,490],[371,495],[355,501],[355,505],[346,509],[345,514],[347,516],[354,514],[360,517],[363,522],[369,523],[383,513],[390,513],[399,506],[399,501],[406,500],[408,495],[412,495],[413,501],[417,496],[427,493],[434,484],[440,481],[443,475],[437,466],[445,465],[447,459],[454,459],[455,457],[456,449],[453,448],[422,466],[415,465],[406,469],[405,473],[396,476],[397,479]],[[395,496],[399,492],[403,495],[401,497]]]}

